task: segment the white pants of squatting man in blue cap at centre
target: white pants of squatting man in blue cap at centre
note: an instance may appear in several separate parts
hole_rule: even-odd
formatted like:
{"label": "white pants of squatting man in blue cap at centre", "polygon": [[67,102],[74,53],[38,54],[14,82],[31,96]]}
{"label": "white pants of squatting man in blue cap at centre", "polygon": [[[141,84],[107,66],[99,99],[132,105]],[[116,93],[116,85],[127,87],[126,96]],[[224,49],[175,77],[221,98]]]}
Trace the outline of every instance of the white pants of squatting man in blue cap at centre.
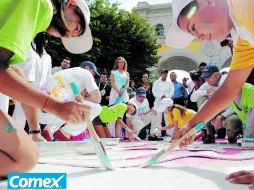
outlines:
{"label": "white pants of squatting man in blue cap at centre", "polygon": [[150,135],[155,134],[154,132],[155,128],[161,127],[160,113],[157,113],[156,115],[154,115],[152,112],[149,112],[143,118],[140,118],[140,119],[129,118],[129,120],[134,132],[136,132],[137,134],[139,133],[141,129],[143,129],[145,126],[147,126],[150,123],[151,123]]}

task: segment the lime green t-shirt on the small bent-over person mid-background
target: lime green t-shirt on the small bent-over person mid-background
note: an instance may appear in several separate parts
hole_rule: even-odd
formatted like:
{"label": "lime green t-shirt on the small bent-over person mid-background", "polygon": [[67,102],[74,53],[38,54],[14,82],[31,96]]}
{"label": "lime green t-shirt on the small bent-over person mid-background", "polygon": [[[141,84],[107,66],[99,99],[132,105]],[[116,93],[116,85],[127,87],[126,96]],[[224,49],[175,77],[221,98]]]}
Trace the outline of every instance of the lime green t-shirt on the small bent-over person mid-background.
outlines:
{"label": "lime green t-shirt on the small bent-over person mid-background", "polygon": [[124,103],[116,104],[110,107],[102,106],[102,110],[99,117],[103,123],[114,122],[119,117],[123,118],[126,110],[127,110],[127,105]]}

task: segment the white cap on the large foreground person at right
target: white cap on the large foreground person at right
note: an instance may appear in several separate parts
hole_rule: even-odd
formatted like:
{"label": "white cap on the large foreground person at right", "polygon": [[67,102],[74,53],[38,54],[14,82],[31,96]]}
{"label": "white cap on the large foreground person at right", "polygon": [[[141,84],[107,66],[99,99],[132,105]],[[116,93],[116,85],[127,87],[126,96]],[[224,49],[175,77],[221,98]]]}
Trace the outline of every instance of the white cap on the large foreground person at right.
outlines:
{"label": "white cap on the large foreground person at right", "polygon": [[169,27],[166,37],[166,43],[171,47],[184,48],[194,39],[194,36],[185,31],[182,31],[177,24],[179,14],[183,8],[192,1],[193,0],[172,0],[173,21]]}

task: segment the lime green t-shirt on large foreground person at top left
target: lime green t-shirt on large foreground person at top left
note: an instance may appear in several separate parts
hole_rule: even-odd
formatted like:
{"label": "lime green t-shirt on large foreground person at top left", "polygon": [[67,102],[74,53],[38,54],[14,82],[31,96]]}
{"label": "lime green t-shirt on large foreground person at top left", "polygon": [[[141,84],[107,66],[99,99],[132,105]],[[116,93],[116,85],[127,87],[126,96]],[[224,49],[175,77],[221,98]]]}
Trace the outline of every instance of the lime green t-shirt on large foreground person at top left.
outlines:
{"label": "lime green t-shirt on large foreground person at top left", "polygon": [[0,0],[0,47],[14,53],[8,64],[21,63],[36,34],[53,16],[51,0]]}

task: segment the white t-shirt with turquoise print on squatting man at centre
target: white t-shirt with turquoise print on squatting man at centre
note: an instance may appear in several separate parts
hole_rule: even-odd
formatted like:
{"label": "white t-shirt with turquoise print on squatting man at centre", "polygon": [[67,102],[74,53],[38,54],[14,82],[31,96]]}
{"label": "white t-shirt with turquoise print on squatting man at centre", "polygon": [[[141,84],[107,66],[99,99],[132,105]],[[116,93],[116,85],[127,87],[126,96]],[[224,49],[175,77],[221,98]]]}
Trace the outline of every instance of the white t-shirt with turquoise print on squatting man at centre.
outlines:
{"label": "white t-shirt with turquoise print on squatting man at centre", "polygon": [[145,114],[147,114],[150,111],[149,102],[146,98],[142,103],[138,102],[136,97],[133,97],[132,99],[130,99],[129,102],[135,103],[138,107],[138,110],[135,115],[132,115],[132,116],[127,115],[127,117],[130,117],[133,119],[142,119],[145,116]]}

